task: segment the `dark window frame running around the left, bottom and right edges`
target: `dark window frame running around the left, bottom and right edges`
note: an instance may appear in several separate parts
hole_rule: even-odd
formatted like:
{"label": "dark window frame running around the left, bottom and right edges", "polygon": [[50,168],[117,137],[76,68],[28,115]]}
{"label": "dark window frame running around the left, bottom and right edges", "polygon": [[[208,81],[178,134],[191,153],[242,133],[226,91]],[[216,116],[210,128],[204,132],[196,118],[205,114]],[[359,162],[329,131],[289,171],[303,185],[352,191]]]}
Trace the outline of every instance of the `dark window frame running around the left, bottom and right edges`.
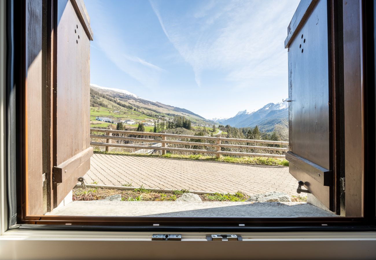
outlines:
{"label": "dark window frame running around the left, bottom and right edges", "polygon": [[[330,0],[328,0],[330,1]],[[331,0],[335,3],[335,0]],[[366,205],[375,205],[374,195],[376,194],[374,184],[375,165],[373,160],[376,158],[374,146],[366,145],[365,152],[367,160],[365,164],[365,172],[367,174],[367,181],[364,183],[365,193],[369,196],[364,200],[364,217],[332,217],[332,218],[166,218],[166,217],[100,217],[100,216],[26,216],[24,210],[26,181],[25,181],[25,129],[24,129],[24,112],[23,112],[23,91],[25,87],[25,24],[22,17],[25,14],[25,9],[22,12],[13,10],[14,1],[8,0],[8,13],[15,16],[7,16],[10,20],[8,24],[14,26],[8,28],[8,77],[7,86],[2,89],[4,94],[3,101],[7,104],[10,110],[9,114],[3,115],[4,121],[3,133],[6,138],[3,139],[6,146],[6,152],[2,153],[3,162],[6,167],[7,176],[2,179],[2,192],[7,191],[8,200],[2,203],[2,221],[5,215],[8,215],[8,228],[18,230],[100,230],[100,231],[221,231],[221,232],[271,232],[271,231],[376,231],[375,221],[375,207]],[[362,5],[365,3],[362,2]],[[24,6],[23,6],[24,7]],[[373,8],[368,8],[368,10]],[[370,19],[370,14],[363,6],[364,12],[367,12],[364,19]],[[14,13],[13,13],[14,12]],[[367,16],[368,14],[368,16]],[[368,21],[368,20],[367,20]],[[373,24],[373,14],[372,14]],[[373,27],[372,27],[373,29]],[[13,38],[9,32],[13,32]],[[370,40],[367,39],[367,46]],[[373,41],[372,41],[373,44]],[[14,51],[14,50],[22,51]],[[374,68],[374,60],[370,62],[367,60],[367,68]],[[367,81],[371,82],[370,73],[367,74]],[[14,82],[13,82],[14,81]],[[374,80],[373,80],[374,85]],[[371,89],[368,89],[371,91]],[[368,92],[369,93],[369,92]],[[371,91],[372,93],[372,91]],[[374,93],[374,90],[373,90]],[[14,97],[10,94],[15,95]],[[374,111],[374,95],[367,95],[366,111]],[[18,103],[17,103],[18,102]],[[17,106],[18,104],[18,106]],[[20,105],[21,104],[21,105]],[[4,111],[3,111],[4,113]],[[366,125],[366,132],[374,132],[374,118],[371,121],[374,113],[367,113],[366,115],[371,124]],[[370,137],[371,139],[371,137]],[[374,137],[372,144],[374,144]],[[4,172],[3,172],[4,173]],[[373,174],[371,174],[373,173]],[[5,185],[7,183],[7,185]],[[15,195],[17,194],[17,203]],[[372,196],[373,195],[373,196]],[[373,203],[373,204],[372,204]],[[7,205],[8,207],[3,207]],[[8,214],[4,213],[8,212]],[[17,212],[17,214],[16,214]],[[17,219],[15,216],[17,215]],[[3,222],[4,224],[4,222]],[[158,227],[153,224],[159,224]],[[239,226],[243,224],[244,226]]]}

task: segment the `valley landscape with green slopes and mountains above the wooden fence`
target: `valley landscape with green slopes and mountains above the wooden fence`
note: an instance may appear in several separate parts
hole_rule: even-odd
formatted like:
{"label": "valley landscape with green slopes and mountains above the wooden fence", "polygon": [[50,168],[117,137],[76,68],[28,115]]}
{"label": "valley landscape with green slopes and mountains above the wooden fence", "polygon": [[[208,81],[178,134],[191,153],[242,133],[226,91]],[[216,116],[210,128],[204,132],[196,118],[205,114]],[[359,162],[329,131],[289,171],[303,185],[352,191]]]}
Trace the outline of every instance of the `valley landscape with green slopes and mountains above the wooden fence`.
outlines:
{"label": "valley landscape with green slopes and mountains above the wooden fence", "polygon": [[[149,101],[122,89],[90,86],[90,127],[117,128],[123,123],[124,130],[136,130],[143,125],[144,132],[165,132],[183,135],[228,136],[236,135],[234,128],[244,136],[249,130],[264,133],[268,138],[277,132],[280,138],[288,139],[288,104],[268,103],[262,108],[249,112],[243,110],[231,118],[205,119],[190,110],[174,107],[157,101]],[[188,123],[189,122],[189,123]],[[188,127],[189,124],[189,127]],[[216,125],[215,130],[213,124]],[[226,127],[225,127],[226,126]],[[241,136],[240,136],[241,137]]]}

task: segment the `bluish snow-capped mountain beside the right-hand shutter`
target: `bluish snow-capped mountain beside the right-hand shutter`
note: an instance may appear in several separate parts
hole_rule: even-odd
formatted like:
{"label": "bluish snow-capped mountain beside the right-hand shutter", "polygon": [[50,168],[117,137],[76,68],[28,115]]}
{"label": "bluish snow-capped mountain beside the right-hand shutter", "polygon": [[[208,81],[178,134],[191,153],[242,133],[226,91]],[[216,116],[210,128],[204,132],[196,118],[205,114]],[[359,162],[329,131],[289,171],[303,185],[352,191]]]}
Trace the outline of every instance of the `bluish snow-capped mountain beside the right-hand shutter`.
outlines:
{"label": "bluish snow-capped mountain beside the right-hand shutter", "polygon": [[216,120],[222,125],[232,127],[258,127],[264,131],[273,131],[274,125],[282,121],[288,121],[288,103],[268,103],[256,111],[239,111],[232,118]]}

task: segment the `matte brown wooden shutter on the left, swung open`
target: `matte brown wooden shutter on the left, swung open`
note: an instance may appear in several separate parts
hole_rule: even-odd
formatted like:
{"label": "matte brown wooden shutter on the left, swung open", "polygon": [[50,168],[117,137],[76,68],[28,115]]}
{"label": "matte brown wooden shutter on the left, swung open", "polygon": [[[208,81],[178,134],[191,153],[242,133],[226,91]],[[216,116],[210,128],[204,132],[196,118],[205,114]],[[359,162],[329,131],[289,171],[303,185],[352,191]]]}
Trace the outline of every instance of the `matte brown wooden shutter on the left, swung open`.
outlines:
{"label": "matte brown wooden shutter on the left, swung open", "polygon": [[56,80],[53,104],[53,207],[90,168],[90,40],[80,1],[58,0],[55,9]]}

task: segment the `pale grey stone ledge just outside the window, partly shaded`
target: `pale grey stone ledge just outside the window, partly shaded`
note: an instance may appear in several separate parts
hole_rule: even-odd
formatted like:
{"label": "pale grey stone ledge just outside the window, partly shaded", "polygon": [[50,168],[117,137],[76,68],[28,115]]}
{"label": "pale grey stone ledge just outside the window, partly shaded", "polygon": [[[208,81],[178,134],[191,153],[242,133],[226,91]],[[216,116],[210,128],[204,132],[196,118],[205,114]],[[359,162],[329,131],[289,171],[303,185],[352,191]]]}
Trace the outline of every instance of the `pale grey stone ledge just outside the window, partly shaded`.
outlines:
{"label": "pale grey stone ledge just outside the window, partly shaded", "polygon": [[330,217],[302,202],[73,201],[46,215],[148,217]]}

